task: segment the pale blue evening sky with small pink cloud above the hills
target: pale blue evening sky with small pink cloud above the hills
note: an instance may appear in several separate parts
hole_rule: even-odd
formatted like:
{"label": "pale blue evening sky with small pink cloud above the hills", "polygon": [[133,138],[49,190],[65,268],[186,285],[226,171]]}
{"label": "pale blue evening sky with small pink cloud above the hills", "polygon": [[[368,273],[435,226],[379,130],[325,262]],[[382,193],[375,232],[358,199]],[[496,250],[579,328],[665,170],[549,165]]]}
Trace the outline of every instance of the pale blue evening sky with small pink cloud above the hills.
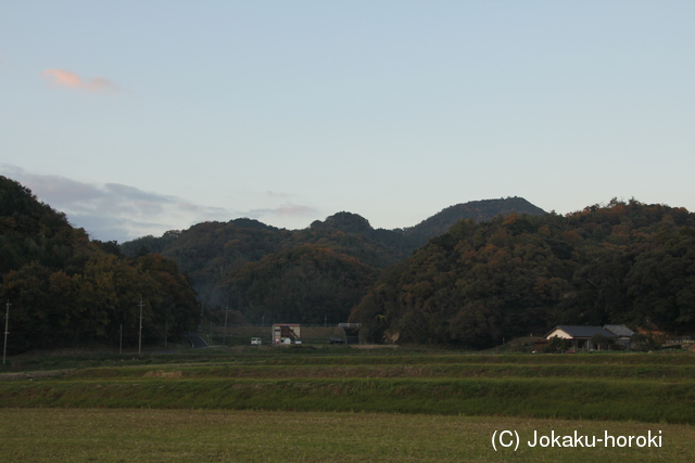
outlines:
{"label": "pale blue evening sky with small pink cloud above the hills", "polygon": [[0,175],[92,239],[695,210],[695,2],[0,0]]}

